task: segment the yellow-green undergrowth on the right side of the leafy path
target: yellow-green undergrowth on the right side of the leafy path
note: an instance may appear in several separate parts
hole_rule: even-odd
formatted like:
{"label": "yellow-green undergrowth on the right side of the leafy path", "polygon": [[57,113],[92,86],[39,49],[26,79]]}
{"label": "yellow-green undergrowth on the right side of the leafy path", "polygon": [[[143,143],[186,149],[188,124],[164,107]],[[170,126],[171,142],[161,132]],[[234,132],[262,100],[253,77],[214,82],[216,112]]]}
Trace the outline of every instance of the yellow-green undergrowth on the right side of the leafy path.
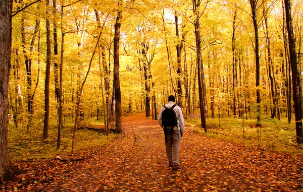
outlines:
{"label": "yellow-green undergrowth on the right side of the leafy path", "polygon": [[262,127],[256,119],[207,118],[207,133],[200,126],[199,118],[188,119],[189,129],[207,137],[241,145],[279,152],[303,153],[303,146],[296,144],[295,123],[286,118],[263,118]]}

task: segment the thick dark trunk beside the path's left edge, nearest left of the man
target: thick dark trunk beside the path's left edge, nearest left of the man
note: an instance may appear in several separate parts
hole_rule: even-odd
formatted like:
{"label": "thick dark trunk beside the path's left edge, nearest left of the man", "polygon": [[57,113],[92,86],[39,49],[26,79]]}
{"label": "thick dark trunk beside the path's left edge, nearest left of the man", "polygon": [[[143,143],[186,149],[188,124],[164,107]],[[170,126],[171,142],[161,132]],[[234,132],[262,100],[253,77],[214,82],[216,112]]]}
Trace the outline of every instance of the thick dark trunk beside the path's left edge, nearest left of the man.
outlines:
{"label": "thick dark trunk beside the path's left edge, nearest left of the man", "polygon": [[[119,1],[118,5],[121,2]],[[120,62],[119,62],[119,45],[120,45],[120,28],[122,20],[122,11],[118,11],[117,19],[115,23],[115,37],[114,37],[114,89],[115,89],[115,99],[116,99],[116,134],[122,133],[122,109],[121,109],[121,90],[120,90]]]}

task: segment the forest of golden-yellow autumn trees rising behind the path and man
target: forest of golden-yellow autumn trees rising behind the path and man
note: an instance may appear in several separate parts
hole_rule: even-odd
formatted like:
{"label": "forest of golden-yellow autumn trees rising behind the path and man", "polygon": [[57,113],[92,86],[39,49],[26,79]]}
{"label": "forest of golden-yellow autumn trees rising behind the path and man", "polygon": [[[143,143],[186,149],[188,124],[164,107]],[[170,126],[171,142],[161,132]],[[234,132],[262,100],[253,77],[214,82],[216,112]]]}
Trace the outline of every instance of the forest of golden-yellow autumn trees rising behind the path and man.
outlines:
{"label": "forest of golden-yellow autumn trees rising behind the path and man", "polygon": [[106,135],[122,133],[122,116],[157,119],[175,95],[205,132],[213,118],[255,120],[256,127],[285,119],[295,122],[293,140],[303,142],[301,0],[11,5],[9,133],[36,132],[59,150],[69,123],[73,153],[79,127],[97,120]]}

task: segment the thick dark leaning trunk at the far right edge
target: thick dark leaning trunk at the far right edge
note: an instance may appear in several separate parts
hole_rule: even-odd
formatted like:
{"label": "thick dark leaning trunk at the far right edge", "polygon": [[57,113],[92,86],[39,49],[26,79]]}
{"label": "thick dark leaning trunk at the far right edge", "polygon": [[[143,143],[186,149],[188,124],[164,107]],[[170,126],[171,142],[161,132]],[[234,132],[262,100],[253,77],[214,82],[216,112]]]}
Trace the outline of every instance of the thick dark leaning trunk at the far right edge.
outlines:
{"label": "thick dark leaning trunk at the far right edge", "polygon": [[294,101],[294,115],[295,115],[295,131],[296,141],[298,144],[303,143],[303,130],[302,130],[302,85],[300,80],[300,73],[297,69],[297,60],[295,52],[295,42],[292,27],[291,18],[291,6],[290,0],[285,0],[285,13],[286,13],[286,27],[288,32],[288,46],[289,46],[289,58],[292,75],[292,90],[293,90],[293,101]]}

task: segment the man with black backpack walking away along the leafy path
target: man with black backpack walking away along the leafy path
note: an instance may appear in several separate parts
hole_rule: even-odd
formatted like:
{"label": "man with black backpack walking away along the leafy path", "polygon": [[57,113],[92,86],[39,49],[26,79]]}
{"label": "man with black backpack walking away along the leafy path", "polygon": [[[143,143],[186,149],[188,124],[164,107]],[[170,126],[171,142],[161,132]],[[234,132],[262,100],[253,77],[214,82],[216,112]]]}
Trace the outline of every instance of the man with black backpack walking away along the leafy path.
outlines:
{"label": "man with black backpack walking away along the leafy path", "polygon": [[[167,126],[167,111],[174,113],[176,122],[173,124],[175,125]],[[172,167],[172,170],[181,169],[182,167],[179,165],[179,146],[181,137],[185,131],[185,127],[182,110],[178,105],[175,105],[175,97],[173,95],[168,97],[168,103],[161,108],[158,116],[158,122],[161,126],[163,126],[165,133],[165,148],[169,167]]]}

